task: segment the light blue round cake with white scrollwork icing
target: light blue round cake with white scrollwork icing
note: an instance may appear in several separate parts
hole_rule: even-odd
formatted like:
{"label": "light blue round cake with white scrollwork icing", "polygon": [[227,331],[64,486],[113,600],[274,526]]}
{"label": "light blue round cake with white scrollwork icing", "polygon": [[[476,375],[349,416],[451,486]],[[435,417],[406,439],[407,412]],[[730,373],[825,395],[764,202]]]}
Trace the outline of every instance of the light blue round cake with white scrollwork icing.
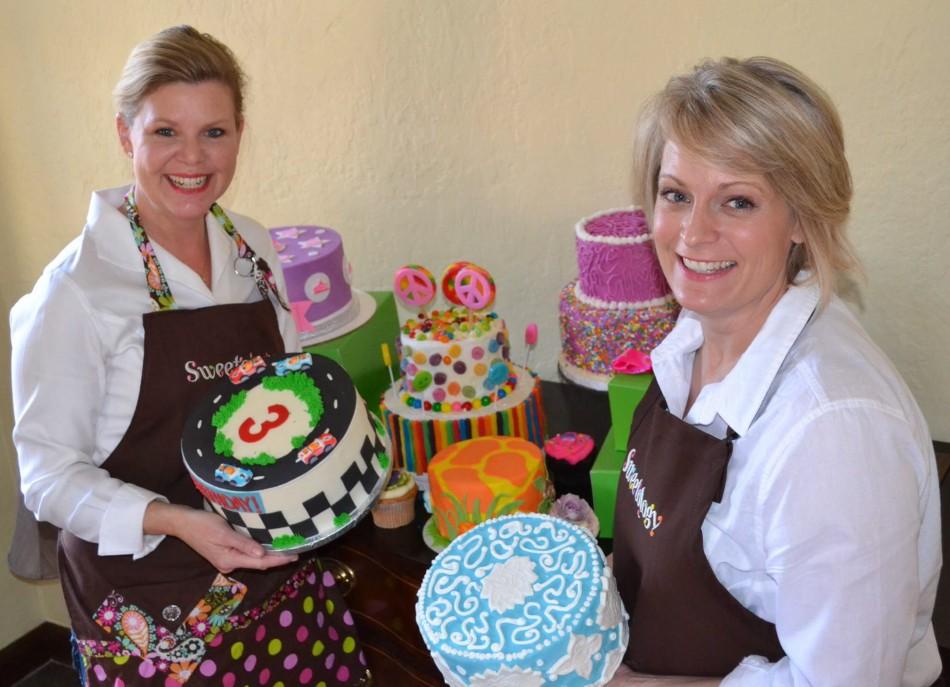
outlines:
{"label": "light blue round cake with white scrollwork icing", "polygon": [[432,562],[416,622],[450,687],[600,687],[628,616],[596,540],[538,514],[488,520]]}

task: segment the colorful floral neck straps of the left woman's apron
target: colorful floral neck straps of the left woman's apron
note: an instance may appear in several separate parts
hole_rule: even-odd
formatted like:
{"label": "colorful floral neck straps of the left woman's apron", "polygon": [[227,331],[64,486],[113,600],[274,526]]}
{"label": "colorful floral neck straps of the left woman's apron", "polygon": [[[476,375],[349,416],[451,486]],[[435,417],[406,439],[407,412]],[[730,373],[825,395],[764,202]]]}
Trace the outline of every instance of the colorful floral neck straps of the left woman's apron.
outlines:
{"label": "colorful floral neck straps of the left woman's apron", "polygon": [[[125,215],[129,218],[135,245],[138,246],[139,253],[142,255],[142,262],[145,265],[145,282],[148,285],[149,297],[152,299],[152,307],[155,310],[174,310],[177,307],[175,297],[172,296],[171,289],[168,287],[168,281],[165,279],[165,273],[162,271],[162,266],[155,255],[155,249],[152,248],[148,235],[142,227],[138,206],[135,204],[134,189],[129,189],[124,200]],[[238,257],[234,261],[234,272],[242,277],[253,277],[257,290],[264,299],[273,297],[280,307],[289,311],[290,308],[280,295],[277,280],[274,278],[274,273],[267,261],[258,256],[247,245],[247,242],[235,228],[234,223],[231,222],[231,218],[225,214],[217,203],[211,206],[211,214],[214,215],[221,228],[234,239],[234,243],[237,245]]]}

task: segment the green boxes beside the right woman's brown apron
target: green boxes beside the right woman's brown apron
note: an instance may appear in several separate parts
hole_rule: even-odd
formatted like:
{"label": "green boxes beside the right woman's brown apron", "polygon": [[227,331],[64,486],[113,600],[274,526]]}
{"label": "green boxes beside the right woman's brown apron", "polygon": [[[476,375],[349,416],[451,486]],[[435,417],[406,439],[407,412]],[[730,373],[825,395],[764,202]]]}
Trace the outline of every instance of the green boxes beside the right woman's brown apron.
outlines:
{"label": "green boxes beside the right woman's brown apron", "polygon": [[617,483],[627,456],[630,423],[633,420],[633,411],[643,400],[652,382],[653,375],[645,372],[635,375],[615,374],[607,384],[611,427],[590,472],[594,512],[600,520],[602,538],[610,539],[614,536]]}

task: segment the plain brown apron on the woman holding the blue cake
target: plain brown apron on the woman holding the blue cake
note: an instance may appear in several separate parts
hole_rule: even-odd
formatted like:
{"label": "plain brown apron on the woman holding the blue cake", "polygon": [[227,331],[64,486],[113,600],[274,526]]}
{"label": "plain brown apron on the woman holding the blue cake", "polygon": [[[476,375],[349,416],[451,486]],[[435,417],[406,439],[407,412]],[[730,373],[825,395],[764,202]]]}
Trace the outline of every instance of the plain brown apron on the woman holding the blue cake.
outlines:
{"label": "plain brown apron on the woman holding the blue cake", "polygon": [[630,614],[624,661],[657,675],[723,677],[746,656],[785,655],[775,625],[716,579],[701,527],[722,498],[731,437],[670,414],[656,381],[633,417],[620,474],[614,571]]}

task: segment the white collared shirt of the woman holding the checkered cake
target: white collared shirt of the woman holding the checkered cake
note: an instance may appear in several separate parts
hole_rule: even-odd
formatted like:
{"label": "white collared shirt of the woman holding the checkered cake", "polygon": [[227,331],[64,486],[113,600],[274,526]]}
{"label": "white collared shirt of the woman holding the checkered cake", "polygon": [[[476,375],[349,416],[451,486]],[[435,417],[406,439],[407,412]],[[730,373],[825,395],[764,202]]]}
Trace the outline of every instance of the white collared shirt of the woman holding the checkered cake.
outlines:
{"label": "white collared shirt of the woman holding the checkered cake", "polygon": [[[152,311],[141,254],[128,219],[116,209],[126,191],[92,194],[82,234],[10,312],[13,442],[24,503],[37,519],[98,542],[100,555],[140,557],[162,540],[142,532],[146,506],[162,497],[99,467],[132,419],[142,376],[142,315]],[[286,293],[266,229],[246,217],[228,216]],[[178,306],[259,301],[254,280],[235,274],[236,244],[210,213],[205,230],[210,290],[152,242]],[[277,319],[287,350],[300,350],[293,318],[278,309]],[[180,460],[174,451],[169,457]]]}

